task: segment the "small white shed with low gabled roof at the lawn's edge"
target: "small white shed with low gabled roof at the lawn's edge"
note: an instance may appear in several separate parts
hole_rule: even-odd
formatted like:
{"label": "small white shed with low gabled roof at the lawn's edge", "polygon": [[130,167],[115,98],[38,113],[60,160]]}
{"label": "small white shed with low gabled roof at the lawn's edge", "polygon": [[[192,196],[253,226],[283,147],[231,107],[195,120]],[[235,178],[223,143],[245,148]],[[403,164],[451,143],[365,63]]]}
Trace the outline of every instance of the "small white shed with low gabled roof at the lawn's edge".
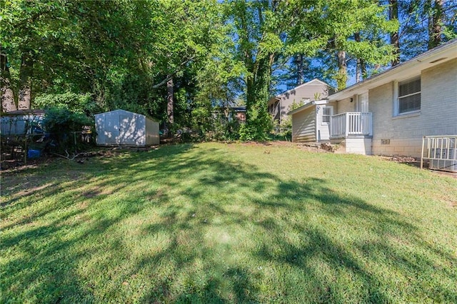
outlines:
{"label": "small white shed with low gabled roof at the lawn's edge", "polygon": [[95,115],[99,146],[151,146],[159,144],[159,123],[125,110]]}

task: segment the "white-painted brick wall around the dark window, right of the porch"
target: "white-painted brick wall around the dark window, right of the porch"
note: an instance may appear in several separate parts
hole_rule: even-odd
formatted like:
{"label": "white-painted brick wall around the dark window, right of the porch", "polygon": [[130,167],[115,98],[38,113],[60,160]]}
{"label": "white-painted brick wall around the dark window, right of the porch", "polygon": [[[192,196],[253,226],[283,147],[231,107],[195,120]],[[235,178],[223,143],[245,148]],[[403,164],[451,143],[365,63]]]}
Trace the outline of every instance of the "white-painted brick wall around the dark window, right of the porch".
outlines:
{"label": "white-painted brick wall around the dark window, right of the porch", "polygon": [[457,134],[456,82],[457,59],[421,71],[421,111],[404,116],[393,116],[393,82],[370,90],[373,154],[420,157],[422,136]]}

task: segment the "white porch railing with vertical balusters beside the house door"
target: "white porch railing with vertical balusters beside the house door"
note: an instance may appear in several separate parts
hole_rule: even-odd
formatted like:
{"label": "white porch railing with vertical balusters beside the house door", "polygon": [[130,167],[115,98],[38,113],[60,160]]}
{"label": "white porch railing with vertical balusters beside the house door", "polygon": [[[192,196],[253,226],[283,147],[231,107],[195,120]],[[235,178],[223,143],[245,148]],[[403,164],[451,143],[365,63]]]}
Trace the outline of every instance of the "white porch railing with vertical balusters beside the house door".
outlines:
{"label": "white porch railing with vertical balusters beside the house door", "polygon": [[351,135],[373,135],[371,112],[346,112],[331,116],[330,137],[347,137]]}

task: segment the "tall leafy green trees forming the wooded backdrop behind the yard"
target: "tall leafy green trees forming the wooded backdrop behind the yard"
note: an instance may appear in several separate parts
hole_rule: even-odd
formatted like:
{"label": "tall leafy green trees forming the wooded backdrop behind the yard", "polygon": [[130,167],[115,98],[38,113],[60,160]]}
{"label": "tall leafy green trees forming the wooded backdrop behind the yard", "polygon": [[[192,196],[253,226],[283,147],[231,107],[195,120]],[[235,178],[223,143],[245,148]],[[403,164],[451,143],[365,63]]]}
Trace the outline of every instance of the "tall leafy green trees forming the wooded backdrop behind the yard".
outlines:
{"label": "tall leafy green trees forming the wooded backdrop behind the yard", "polygon": [[214,127],[246,104],[244,140],[271,128],[266,101],[318,77],[345,88],[457,36],[442,0],[0,1],[2,111],[124,108],[170,131]]}

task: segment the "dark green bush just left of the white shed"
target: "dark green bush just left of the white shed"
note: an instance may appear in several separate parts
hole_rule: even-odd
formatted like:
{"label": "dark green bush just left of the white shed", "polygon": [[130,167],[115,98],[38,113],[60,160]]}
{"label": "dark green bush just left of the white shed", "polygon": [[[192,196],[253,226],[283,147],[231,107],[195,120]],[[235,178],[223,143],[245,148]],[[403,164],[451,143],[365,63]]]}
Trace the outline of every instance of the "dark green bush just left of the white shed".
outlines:
{"label": "dark green bush just left of the white shed", "polygon": [[75,151],[84,147],[79,138],[83,127],[94,132],[94,121],[82,113],[67,108],[49,108],[44,118],[44,130],[49,134],[49,150],[54,153]]}

